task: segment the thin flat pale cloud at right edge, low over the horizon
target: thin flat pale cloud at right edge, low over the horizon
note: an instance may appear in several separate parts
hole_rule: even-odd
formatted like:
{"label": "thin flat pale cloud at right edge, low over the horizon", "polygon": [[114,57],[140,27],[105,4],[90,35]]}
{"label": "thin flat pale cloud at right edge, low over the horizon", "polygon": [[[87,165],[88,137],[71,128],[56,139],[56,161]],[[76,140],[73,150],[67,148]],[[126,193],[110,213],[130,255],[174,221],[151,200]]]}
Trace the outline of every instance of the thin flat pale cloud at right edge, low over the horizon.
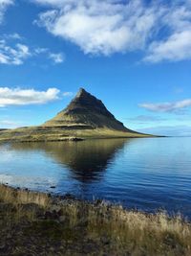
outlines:
{"label": "thin flat pale cloud at right edge, low over the horizon", "polygon": [[154,112],[179,113],[180,111],[185,110],[185,108],[191,106],[191,99],[186,99],[175,103],[140,104],[139,106]]}

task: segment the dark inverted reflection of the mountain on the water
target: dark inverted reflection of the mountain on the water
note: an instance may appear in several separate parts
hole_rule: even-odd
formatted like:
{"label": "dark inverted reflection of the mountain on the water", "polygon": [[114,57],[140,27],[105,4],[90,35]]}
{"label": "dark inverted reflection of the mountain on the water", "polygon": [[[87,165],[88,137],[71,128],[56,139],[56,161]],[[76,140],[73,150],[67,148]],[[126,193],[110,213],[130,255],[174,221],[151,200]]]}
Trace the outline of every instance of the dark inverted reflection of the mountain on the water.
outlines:
{"label": "dark inverted reflection of the mountain on the water", "polygon": [[16,151],[44,151],[58,164],[67,167],[73,178],[90,182],[101,178],[117,151],[130,141],[131,139],[101,139],[76,143],[22,143],[12,144],[11,148]]}

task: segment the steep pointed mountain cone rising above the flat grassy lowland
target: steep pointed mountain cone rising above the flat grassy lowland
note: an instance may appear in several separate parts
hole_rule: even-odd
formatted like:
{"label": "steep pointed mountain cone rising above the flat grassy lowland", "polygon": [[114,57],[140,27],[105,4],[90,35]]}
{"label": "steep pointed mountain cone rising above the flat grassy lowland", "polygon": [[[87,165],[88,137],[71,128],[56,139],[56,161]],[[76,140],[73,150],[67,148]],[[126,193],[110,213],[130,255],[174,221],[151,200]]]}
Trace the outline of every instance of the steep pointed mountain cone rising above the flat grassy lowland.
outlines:
{"label": "steep pointed mountain cone rising above the flat grassy lowland", "polygon": [[46,122],[45,127],[96,129],[108,128],[130,131],[115,118],[106,106],[95,96],[80,88],[74,100],[53,119]]}

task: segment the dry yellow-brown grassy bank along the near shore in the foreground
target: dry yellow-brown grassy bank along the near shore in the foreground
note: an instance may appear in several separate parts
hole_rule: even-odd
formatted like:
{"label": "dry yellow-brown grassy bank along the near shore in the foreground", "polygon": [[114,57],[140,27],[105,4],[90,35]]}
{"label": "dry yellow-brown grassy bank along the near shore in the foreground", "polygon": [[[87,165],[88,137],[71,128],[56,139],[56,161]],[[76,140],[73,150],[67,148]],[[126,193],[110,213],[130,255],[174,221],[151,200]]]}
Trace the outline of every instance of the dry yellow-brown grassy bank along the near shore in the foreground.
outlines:
{"label": "dry yellow-brown grassy bank along the near shore in the foreground", "polygon": [[0,185],[0,255],[191,255],[191,225]]}

